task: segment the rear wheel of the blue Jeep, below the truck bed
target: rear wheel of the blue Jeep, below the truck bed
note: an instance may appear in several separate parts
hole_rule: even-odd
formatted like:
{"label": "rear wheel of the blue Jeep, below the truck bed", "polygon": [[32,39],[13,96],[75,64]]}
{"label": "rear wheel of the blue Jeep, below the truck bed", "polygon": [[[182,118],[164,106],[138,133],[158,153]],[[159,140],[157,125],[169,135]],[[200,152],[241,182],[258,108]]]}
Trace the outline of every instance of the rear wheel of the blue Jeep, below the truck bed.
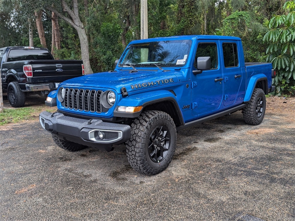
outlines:
{"label": "rear wheel of the blue Jeep, below the truck bed", "polygon": [[247,124],[258,125],[262,122],[265,114],[266,99],[262,89],[255,88],[250,102],[242,113]]}

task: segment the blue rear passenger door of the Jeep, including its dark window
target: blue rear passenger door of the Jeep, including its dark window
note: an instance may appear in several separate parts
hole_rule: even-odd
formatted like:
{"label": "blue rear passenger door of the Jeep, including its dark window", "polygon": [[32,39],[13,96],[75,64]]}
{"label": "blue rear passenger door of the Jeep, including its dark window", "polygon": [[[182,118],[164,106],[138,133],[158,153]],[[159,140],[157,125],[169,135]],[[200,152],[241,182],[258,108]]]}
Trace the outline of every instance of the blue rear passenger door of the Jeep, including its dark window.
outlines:
{"label": "blue rear passenger door of the Jeep, including its dark window", "polygon": [[[220,40],[224,75],[224,106],[243,102],[245,88],[245,67],[240,62],[238,41]],[[244,59],[244,58],[243,58]],[[243,83],[243,84],[242,84]]]}

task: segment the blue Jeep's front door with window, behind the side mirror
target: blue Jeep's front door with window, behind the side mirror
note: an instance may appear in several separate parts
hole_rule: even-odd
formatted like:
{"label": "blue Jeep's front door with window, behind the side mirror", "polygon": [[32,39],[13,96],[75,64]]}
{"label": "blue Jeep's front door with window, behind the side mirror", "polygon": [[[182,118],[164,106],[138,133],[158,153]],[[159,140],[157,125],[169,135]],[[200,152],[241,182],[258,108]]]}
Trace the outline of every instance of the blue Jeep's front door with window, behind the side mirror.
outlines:
{"label": "blue Jeep's front door with window, behind the side mirror", "polygon": [[201,74],[191,73],[192,115],[209,115],[217,110],[223,98],[223,74],[220,67],[220,52],[218,42],[204,41],[197,46],[195,64],[192,70],[197,70],[198,57],[211,57],[211,69]]}

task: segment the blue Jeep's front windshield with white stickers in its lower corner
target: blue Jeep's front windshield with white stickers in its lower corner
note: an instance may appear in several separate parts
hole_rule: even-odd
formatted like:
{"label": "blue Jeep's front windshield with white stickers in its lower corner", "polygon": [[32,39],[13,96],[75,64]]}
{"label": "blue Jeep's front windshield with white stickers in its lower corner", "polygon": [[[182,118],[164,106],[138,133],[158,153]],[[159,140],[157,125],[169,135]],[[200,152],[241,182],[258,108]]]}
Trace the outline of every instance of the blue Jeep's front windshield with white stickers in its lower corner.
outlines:
{"label": "blue Jeep's front windshield with white stickers in its lower corner", "polygon": [[130,44],[120,66],[143,67],[157,64],[161,67],[181,67],[186,64],[191,40],[172,40]]}

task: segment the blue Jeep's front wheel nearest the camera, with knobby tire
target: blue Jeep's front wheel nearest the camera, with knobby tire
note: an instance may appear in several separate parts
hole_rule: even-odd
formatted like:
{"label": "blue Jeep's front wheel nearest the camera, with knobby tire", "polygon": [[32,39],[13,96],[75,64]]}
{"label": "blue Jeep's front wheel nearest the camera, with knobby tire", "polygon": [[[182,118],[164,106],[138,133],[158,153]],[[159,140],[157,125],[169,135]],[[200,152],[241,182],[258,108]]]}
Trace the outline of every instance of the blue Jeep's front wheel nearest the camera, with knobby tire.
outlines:
{"label": "blue Jeep's front wheel nearest the camera, with knobby tire", "polygon": [[146,111],[131,125],[127,141],[127,159],[137,171],[153,175],[162,172],[172,160],[176,127],[169,114]]}

